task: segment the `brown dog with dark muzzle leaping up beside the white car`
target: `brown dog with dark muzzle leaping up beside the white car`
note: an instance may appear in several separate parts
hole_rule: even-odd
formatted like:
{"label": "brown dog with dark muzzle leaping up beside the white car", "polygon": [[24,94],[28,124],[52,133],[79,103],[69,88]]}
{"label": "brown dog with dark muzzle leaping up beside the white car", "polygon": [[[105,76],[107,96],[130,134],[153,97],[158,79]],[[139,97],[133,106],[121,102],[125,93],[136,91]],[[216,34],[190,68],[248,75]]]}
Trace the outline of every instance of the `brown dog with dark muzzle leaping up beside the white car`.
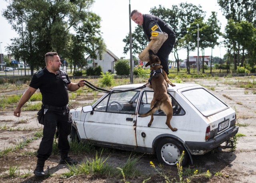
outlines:
{"label": "brown dog with dark muzzle leaping up beside the white car", "polygon": [[[154,90],[153,99],[150,103],[150,110],[146,112],[145,114],[141,114],[138,117],[146,117],[151,115],[150,122],[148,123],[148,127],[151,126],[153,120],[154,120],[154,112],[158,109],[161,109],[166,114],[166,125],[173,131],[177,131],[177,128],[172,128],[170,121],[172,119],[172,102],[167,94],[167,82],[164,77],[164,72],[159,72],[159,70],[162,70],[162,65],[160,65],[161,61],[154,54],[152,50],[148,50],[149,53],[149,62],[146,65],[150,65],[150,70],[153,71],[154,75],[150,76],[151,80],[151,87]],[[152,72],[151,71],[151,72]],[[166,73],[165,73],[166,74]],[[167,78],[167,75],[166,75]],[[168,80],[169,81],[169,80]],[[173,85],[170,82],[170,85]],[[175,86],[175,85],[174,85]]]}

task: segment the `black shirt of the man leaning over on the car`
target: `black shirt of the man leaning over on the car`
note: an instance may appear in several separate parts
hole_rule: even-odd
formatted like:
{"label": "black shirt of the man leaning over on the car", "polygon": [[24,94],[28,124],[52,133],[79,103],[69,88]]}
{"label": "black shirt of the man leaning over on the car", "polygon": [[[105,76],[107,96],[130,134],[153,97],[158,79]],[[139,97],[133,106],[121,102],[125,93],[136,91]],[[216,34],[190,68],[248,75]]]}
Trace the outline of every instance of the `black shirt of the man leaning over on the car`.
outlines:
{"label": "black shirt of the man leaning over on the car", "polygon": [[174,31],[160,18],[150,15],[150,14],[143,14],[143,31],[145,35],[148,37],[148,40],[151,41],[151,31],[149,30],[149,24],[150,22],[157,22],[160,29],[168,34],[168,38],[174,37],[175,33]]}

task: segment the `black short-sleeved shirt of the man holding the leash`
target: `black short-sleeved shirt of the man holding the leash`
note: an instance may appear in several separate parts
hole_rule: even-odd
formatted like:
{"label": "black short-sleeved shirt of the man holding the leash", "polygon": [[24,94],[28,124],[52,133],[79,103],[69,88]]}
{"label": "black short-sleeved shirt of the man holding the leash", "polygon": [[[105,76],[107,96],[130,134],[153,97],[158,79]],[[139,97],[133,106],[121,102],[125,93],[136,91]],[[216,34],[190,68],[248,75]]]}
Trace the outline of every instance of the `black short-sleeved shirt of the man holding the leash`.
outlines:
{"label": "black short-sleeved shirt of the man holding the leash", "polygon": [[71,83],[68,74],[58,70],[50,73],[46,68],[38,71],[29,84],[34,89],[40,89],[43,104],[51,106],[66,106],[68,104],[68,84]]}

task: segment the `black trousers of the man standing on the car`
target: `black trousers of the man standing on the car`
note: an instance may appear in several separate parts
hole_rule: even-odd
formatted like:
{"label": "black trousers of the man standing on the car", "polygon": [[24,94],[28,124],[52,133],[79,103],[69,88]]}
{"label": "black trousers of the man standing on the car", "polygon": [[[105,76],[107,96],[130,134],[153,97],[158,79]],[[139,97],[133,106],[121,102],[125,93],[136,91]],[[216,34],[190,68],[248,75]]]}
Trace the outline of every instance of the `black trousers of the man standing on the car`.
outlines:
{"label": "black trousers of the man standing on the car", "polygon": [[171,35],[172,37],[168,37],[168,39],[163,43],[160,47],[156,55],[159,57],[161,61],[161,65],[163,66],[164,71],[166,74],[169,74],[169,65],[168,65],[168,57],[172,51],[174,43],[176,41],[175,35]]}

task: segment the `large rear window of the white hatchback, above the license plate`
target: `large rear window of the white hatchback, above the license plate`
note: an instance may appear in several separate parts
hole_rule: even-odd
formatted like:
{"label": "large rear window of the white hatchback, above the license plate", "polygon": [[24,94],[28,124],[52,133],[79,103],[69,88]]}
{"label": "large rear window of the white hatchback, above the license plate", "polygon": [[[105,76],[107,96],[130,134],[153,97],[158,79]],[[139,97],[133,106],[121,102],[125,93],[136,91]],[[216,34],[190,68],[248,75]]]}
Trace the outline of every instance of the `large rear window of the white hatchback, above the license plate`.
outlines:
{"label": "large rear window of the white hatchback, above the license plate", "polygon": [[204,115],[210,116],[228,108],[226,104],[205,89],[193,89],[182,94]]}

